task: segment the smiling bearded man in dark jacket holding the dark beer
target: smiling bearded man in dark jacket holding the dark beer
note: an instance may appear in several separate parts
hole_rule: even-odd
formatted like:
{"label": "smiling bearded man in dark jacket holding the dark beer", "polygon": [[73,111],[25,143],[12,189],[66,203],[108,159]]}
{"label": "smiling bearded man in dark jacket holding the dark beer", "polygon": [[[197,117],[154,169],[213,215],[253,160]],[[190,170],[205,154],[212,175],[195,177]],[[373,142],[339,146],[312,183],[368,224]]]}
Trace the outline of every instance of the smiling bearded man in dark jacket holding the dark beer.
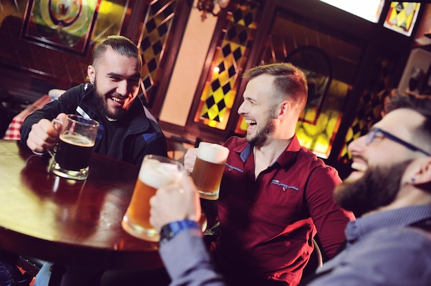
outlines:
{"label": "smiling bearded man in dark jacket holding the dark beer", "polygon": [[[167,156],[165,135],[138,97],[142,58],[124,36],[107,36],[94,47],[90,83],[73,87],[25,118],[21,142],[44,153],[59,141],[51,124],[74,113],[99,122],[93,151],[140,166],[147,154]],[[57,125],[58,126],[58,125]]]}

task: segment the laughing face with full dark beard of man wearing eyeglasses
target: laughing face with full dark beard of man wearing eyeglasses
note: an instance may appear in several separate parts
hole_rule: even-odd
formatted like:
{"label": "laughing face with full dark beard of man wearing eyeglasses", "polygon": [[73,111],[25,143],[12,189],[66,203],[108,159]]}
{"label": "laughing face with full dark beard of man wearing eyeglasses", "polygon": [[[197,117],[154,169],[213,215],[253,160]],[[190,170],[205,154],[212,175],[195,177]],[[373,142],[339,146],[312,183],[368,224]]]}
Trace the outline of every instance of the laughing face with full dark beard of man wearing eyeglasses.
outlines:
{"label": "laughing face with full dark beard of man wearing eyeglasses", "polygon": [[[375,127],[427,150],[424,144],[427,141],[420,140],[423,138],[418,138],[414,133],[423,120],[424,117],[416,111],[396,109]],[[334,197],[341,207],[352,210],[357,216],[394,201],[403,184],[410,179],[405,175],[406,168],[412,160],[424,156],[381,133],[376,133],[368,145],[366,136],[362,136],[348,148],[353,154],[354,171],[335,188]]]}

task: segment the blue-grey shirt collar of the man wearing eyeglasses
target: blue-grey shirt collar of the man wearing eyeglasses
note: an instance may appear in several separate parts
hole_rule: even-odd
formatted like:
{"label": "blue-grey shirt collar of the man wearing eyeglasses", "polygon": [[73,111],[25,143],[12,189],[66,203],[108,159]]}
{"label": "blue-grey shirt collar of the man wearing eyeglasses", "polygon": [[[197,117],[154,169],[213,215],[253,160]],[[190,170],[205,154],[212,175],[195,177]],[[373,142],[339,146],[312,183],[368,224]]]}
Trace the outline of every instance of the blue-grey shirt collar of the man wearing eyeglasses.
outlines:
{"label": "blue-grey shirt collar of the man wearing eyeglasses", "polygon": [[431,205],[408,206],[397,210],[377,212],[360,217],[356,221],[350,221],[346,226],[346,239],[352,242],[381,228],[405,227],[430,217]]}

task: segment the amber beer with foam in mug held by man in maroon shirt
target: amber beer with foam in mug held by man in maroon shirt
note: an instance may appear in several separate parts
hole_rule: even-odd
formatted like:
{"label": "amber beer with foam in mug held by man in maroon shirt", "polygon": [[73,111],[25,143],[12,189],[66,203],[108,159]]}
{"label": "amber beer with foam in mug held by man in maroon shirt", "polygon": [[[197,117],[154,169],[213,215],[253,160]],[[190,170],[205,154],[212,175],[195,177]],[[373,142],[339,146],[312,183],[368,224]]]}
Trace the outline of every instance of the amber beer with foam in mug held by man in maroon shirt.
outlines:
{"label": "amber beer with foam in mug held by man in maroon shirt", "polygon": [[191,178],[202,199],[218,199],[220,182],[229,149],[213,143],[200,142]]}

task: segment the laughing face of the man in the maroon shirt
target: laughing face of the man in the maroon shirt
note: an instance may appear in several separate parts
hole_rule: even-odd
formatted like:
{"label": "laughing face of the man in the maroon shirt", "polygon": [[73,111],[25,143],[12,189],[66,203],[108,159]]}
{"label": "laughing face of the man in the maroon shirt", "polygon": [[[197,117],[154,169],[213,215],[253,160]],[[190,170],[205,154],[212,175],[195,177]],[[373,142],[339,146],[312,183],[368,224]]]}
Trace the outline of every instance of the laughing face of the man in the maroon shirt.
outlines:
{"label": "laughing face of the man in the maroon shirt", "polygon": [[247,142],[262,146],[275,131],[275,91],[273,76],[262,74],[249,81],[244,91],[238,113],[249,124],[246,131]]}

